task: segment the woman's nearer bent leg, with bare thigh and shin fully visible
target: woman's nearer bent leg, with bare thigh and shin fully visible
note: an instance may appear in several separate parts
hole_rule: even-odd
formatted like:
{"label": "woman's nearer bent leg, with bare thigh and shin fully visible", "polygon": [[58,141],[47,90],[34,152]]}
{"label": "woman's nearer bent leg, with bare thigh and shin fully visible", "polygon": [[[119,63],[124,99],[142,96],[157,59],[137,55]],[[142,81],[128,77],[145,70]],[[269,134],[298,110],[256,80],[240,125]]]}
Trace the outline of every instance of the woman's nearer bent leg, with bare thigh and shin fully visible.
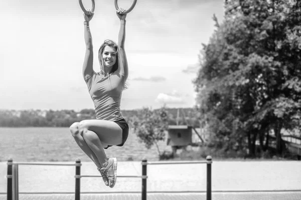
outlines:
{"label": "woman's nearer bent leg, with bare thigh and shin fully visible", "polygon": [[96,155],[102,166],[107,165],[107,156],[103,144],[117,145],[122,143],[122,129],[120,126],[108,120],[90,119],[79,123],[79,133]]}

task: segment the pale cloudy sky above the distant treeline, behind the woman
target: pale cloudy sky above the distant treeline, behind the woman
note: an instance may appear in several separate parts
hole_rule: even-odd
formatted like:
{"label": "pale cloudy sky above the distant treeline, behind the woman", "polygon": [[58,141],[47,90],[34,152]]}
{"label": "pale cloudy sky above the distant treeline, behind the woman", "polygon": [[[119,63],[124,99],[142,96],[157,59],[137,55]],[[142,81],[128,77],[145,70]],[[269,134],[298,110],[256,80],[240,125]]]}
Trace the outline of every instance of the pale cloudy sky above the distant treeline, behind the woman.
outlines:
{"label": "pale cloudy sky above the distant treeline, behind the woman", "polygon": [[[91,0],[82,0],[91,7]],[[118,0],[129,8],[132,0]],[[78,0],[1,0],[0,109],[94,108],[82,77],[83,11]],[[192,107],[202,43],[223,20],[223,0],[137,0],[126,16],[129,88],[121,109]],[[94,61],[105,39],[117,42],[114,0],[95,0]]]}

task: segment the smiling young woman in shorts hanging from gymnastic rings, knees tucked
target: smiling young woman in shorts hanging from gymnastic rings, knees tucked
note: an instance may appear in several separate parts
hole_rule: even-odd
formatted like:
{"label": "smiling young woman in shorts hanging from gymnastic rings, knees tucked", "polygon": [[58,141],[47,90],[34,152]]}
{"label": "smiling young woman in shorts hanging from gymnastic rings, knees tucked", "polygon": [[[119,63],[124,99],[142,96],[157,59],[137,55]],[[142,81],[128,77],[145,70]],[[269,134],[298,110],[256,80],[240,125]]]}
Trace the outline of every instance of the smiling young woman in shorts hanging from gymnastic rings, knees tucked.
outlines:
{"label": "smiling young woman in shorts hanging from gymnastic rings, knees tucked", "polygon": [[79,147],[93,160],[106,185],[116,182],[117,160],[107,157],[103,148],[122,146],[127,139],[128,124],[120,112],[120,100],[128,76],[124,51],[125,10],[119,8],[120,19],[118,45],[105,40],[98,51],[100,71],[93,70],[93,45],[89,21],[93,17],[84,13],[84,37],[86,54],[83,63],[83,77],[94,102],[96,118],[75,122],[70,131]]}

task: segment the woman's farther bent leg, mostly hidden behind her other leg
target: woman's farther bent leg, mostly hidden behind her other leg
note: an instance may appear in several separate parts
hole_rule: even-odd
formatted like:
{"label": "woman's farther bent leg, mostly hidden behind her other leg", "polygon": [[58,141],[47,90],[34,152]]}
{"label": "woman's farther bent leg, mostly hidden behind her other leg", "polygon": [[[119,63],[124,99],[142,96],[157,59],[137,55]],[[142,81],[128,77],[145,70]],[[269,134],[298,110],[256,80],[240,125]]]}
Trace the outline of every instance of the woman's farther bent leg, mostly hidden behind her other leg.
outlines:
{"label": "woman's farther bent leg, mostly hidden behind her other leg", "polygon": [[79,133],[79,122],[74,122],[70,126],[70,131],[72,136],[74,137],[74,140],[78,144],[78,146],[91,158],[91,160],[95,163],[97,167],[101,167],[100,162],[98,161],[97,156],[95,153],[91,150],[91,148],[88,146],[82,135]]}

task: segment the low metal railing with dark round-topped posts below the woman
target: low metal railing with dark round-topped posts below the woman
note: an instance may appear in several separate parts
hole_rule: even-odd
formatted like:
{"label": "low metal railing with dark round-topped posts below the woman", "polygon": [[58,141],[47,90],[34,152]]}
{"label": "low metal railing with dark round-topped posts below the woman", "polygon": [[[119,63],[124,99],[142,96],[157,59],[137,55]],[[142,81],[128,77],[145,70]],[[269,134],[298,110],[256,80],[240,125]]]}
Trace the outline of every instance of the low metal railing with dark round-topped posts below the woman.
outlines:
{"label": "low metal railing with dark round-topped posts below the woman", "polygon": [[[207,164],[207,200],[211,200],[211,164],[212,157],[208,155],[206,161],[141,161],[142,174],[141,175],[117,175],[117,177],[131,177],[141,178],[141,200],[146,200],[147,197],[147,165],[152,164]],[[43,163],[43,162],[13,162],[13,159],[8,160],[8,187],[7,187],[7,200],[19,200],[19,165],[61,165],[61,166],[75,166],[75,200],[80,200],[80,180],[83,177],[101,177],[101,175],[81,175],[81,161],[77,159],[74,164],[60,164],[60,163]],[[34,193],[34,192],[32,192]]]}

